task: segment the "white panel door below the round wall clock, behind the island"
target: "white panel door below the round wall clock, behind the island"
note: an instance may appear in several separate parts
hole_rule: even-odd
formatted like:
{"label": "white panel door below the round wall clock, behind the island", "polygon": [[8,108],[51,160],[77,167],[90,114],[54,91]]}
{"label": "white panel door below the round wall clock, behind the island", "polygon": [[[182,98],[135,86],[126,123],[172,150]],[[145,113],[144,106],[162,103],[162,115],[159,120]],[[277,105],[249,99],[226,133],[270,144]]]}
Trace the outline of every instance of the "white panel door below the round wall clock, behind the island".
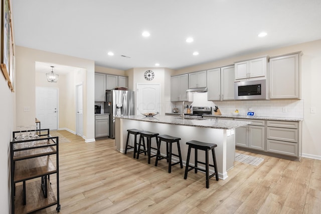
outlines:
{"label": "white panel door below the round wall clock, behind the island", "polygon": [[137,112],[159,112],[159,84],[137,84]]}

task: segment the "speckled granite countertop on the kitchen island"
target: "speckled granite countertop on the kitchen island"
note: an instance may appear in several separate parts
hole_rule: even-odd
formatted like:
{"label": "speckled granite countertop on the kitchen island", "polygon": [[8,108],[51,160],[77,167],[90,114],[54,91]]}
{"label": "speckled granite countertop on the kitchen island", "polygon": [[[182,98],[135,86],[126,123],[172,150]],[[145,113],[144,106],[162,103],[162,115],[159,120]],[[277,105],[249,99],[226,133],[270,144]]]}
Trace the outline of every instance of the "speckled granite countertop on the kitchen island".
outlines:
{"label": "speckled granite countertop on the kitchen island", "polygon": [[126,120],[145,121],[151,123],[161,123],[170,125],[193,126],[212,129],[235,129],[237,127],[246,126],[251,122],[233,121],[233,120],[219,120],[219,119],[185,119],[183,120],[177,116],[160,116],[145,117],[140,115],[133,116],[116,116],[115,118],[122,118]]}

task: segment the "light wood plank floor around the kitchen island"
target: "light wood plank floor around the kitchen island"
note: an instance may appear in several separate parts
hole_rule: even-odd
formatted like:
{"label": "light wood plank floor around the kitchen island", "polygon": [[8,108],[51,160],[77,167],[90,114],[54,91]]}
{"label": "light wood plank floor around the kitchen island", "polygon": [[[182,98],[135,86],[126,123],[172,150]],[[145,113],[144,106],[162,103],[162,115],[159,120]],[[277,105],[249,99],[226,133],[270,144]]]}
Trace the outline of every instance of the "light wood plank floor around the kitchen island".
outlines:
{"label": "light wood plank floor around the kitchen island", "polygon": [[[321,160],[263,157],[259,166],[235,162],[228,179],[210,180],[166,160],[154,166],[115,150],[111,139],[60,144],[60,213],[321,213]],[[181,142],[184,143],[184,142]],[[183,157],[185,160],[186,157]],[[54,176],[51,177],[55,188]],[[57,213],[56,206],[37,213]]]}

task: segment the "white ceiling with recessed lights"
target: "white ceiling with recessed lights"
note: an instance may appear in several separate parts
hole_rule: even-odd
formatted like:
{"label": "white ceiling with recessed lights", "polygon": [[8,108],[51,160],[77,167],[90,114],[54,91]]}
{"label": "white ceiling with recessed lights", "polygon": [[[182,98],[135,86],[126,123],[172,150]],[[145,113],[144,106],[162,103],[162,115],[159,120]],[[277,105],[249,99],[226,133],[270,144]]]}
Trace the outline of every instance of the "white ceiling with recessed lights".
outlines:
{"label": "white ceiling with recessed lights", "polygon": [[321,39],[321,0],[12,0],[12,8],[16,45],[121,70],[179,69]]}

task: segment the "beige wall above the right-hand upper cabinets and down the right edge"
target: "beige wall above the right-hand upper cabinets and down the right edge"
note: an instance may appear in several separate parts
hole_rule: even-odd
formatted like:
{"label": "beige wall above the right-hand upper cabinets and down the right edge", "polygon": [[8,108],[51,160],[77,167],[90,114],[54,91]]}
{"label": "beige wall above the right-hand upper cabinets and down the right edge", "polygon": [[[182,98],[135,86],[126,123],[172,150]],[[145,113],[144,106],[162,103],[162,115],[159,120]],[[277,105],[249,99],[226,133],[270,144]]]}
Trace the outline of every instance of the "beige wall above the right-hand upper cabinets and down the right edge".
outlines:
{"label": "beige wall above the right-hand upper cabinets and down the right edge", "polygon": [[[251,57],[263,55],[272,57],[297,51],[303,52],[301,58],[301,98],[304,101],[302,155],[321,159],[321,143],[318,133],[321,121],[321,99],[319,98],[321,91],[321,40],[191,66],[175,71],[175,75],[230,65],[235,61],[249,59]],[[315,114],[310,114],[311,107],[316,109]]]}

